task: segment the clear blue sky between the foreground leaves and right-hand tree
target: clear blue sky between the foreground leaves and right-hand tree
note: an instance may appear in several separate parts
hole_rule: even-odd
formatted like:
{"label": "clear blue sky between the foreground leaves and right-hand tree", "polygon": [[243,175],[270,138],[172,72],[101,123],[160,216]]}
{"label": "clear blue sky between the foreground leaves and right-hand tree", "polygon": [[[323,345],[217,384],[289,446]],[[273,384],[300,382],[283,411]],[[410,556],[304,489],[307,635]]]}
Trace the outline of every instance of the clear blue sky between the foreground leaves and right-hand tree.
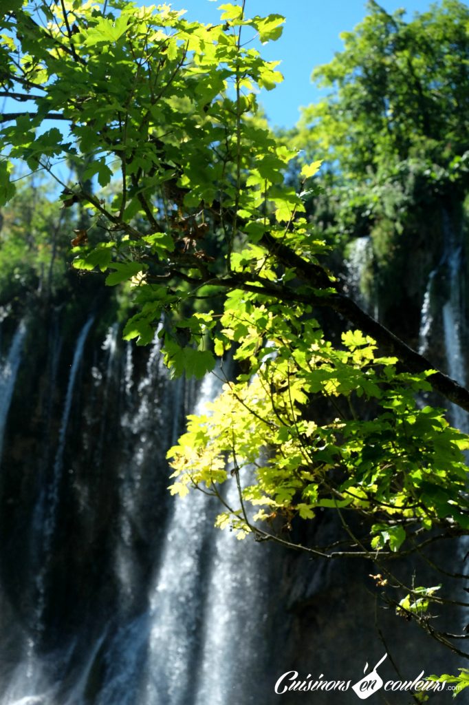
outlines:
{"label": "clear blue sky between the foreground leaves and right-hand tree", "polygon": [[[233,2],[234,0],[223,0]],[[211,0],[168,0],[175,9],[185,8],[186,18],[217,23],[222,2]],[[142,1],[139,4],[146,4]],[[406,18],[425,12],[429,0],[381,0],[387,12],[405,8]],[[311,71],[327,63],[340,51],[340,32],[352,30],[366,14],[364,0],[246,0],[248,16],[278,13],[286,18],[282,37],[262,48],[265,59],[281,60],[278,67],[284,82],[271,92],[261,94],[272,125],[292,127],[299,118],[299,106],[315,102],[320,96],[311,83]]]}

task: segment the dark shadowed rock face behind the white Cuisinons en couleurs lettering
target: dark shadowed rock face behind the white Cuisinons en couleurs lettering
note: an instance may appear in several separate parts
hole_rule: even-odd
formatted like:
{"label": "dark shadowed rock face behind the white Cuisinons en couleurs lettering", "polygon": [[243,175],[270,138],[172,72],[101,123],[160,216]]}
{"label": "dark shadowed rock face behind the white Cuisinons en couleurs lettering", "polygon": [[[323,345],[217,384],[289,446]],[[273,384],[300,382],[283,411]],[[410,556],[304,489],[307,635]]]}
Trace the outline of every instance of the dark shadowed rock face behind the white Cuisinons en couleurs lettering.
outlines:
{"label": "dark shadowed rock face behind the white Cuisinons en couleurs lettering", "polygon": [[[301,543],[325,545],[340,535],[339,520],[329,517],[308,527],[301,535]],[[445,541],[434,544],[429,556],[445,570],[464,570],[458,541],[452,545]],[[388,658],[379,668],[385,682],[398,678],[413,680],[422,670],[426,675],[453,673],[463,666],[461,659],[425,635],[413,621],[396,615],[395,607],[388,601],[396,599],[396,591],[383,589],[373,578],[383,572],[379,563],[361,559],[326,562],[282,551],[274,551],[270,560],[271,571],[277,576],[275,606],[271,612],[277,638],[270,660],[270,689],[266,692],[272,691],[272,682],[275,684],[284,673],[289,673],[284,682],[291,685],[291,672],[299,674],[295,677],[299,681],[350,681],[350,687],[340,692],[320,688],[314,692],[287,690],[278,697],[280,702],[301,705],[313,701],[330,705],[337,701],[353,705],[357,697],[351,685],[363,677],[365,663],[369,673],[385,653]],[[435,582],[433,570],[418,556],[393,562],[389,567],[406,584],[412,576],[415,584]],[[437,582],[445,583],[444,576],[437,578]],[[464,602],[463,587],[461,581],[446,580],[445,594],[452,590],[453,597]],[[454,609],[447,614],[446,625],[441,617],[432,620],[432,624],[459,632],[465,624],[464,617],[464,610]],[[390,692],[386,697],[396,705],[410,702],[403,692]]]}

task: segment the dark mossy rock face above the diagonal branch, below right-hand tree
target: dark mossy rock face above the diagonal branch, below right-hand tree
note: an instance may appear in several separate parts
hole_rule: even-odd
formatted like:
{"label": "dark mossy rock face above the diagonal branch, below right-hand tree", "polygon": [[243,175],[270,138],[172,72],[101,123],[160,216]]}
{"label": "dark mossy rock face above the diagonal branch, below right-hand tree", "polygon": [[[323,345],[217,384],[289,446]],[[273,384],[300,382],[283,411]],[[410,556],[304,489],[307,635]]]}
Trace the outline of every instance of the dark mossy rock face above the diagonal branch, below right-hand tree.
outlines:
{"label": "dark mossy rock face above the diagonal branch, below right-hand tree", "polygon": [[[455,271],[451,274],[447,266],[445,271],[444,265],[450,252],[458,251],[460,283],[467,278],[464,229],[461,206],[451,200],[435,201],[425,211],[415,207],[404,228],[393,219],[377,220],[346,247],[344,290],[417,349],[429,277],[438,273],[435,293],[447,299]],[[444,360],[444,351],[439,359]]]}

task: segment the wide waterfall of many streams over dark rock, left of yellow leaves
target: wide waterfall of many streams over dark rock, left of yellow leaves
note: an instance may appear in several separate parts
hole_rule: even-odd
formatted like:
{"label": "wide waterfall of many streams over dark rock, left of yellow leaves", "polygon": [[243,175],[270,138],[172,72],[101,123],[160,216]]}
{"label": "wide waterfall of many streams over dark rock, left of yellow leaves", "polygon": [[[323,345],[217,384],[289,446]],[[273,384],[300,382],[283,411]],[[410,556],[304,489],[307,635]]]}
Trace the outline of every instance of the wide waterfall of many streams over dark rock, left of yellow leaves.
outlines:
{"label": "wide waterfall of many streams over dark rock, left of yellow leaves", "polygon": [[[42,468],[37,458],[42,486],[32,508],[30,537],[35,577],[25,591],[32,604],[15,637],[14,666],[0,670],[0,703],[224,705],[232,698],[254,702],[251,681],[253,673],[261,674],[265,651],[262,601],[267,594],[268,551],[214,529],[220,507],[204,494],[170,498],[165,489],[169,484],[165,453],[177,440],[185,413],[201,412],[221,383],[208,375],[196,391],[192,382],[168,379],[158,334],[142,369],[142,355],[129,345],[121,349],[116,326],[108,329],[104,343],[92,353],[93,364],[88,364],[85,343],[92,324],[90,318],[77,335],[65,394],[62,401],[56,400],[61,413],[49,466]],[[23,336],[23,327],[20,332]],[[14,350],[19,349],[19,336],[12,350],[13,344]],[[46,375],[56,379],[63,350],[60,336],[52,336],[50,344],[54,359],[46,366]],[[88,391],[79,395],[80,370],[80,390]],[[42,384],[52,398],[55,392],[49,382],[44,378]],[[74,443],[96,460],[91,475],[80,475],[70,447]],[[110,457],[113,445],[116,453]],[[112,476],[106,479],[108,472]],[[101,526],[99,510],[92,510],[93,482],[103,473],[104,486],[108,491],[113,488],[114,503],[113,524],[106,527]],[[82,628],[80,620],[68,635],[59,627],[55,639],[51,618],[58,619],[59,605],[66,598],[63,592],[58,594],[55,606],[51,591],[58,589],[56,560],[73,540],[70,530],[61,538],[70,512],[89,517],[82,529],[72,525],[72,531],[85,532],[80,551],[95,544],[89,532],[100,532],[98,540],[109,543],[110,565],[99,566],[105,573],[99,589],[113,590],[114,607],[107,614],[95,613],[91,628],[90,596],[83,609],[91,615],[83,615]],[[86,534],[89,548],[82,543]],[[75,609],[65,605],[68,611]],[[253,621],[255,630],[249,627]],[[49,639],[54,646],[46,648]],[[239,673],[233,667],[235,660]]]}

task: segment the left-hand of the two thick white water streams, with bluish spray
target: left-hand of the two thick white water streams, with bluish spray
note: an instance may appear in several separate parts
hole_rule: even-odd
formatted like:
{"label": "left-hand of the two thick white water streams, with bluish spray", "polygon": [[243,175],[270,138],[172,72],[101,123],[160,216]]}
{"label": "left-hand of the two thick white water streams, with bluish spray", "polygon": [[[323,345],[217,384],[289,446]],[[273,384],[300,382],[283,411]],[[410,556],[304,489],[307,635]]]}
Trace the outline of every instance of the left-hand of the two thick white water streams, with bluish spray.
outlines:
{"label": "left-hand of the two thick white water streams, with bluish spray", "polygon": [[[137,439],[137,456],[127,475],[123,477],[121,541],[116,554],[119,579],[125,602],[134,593],[132,572],[132,530],[139,510],[137,485],[141,481],[139,467],[144,462],[142,440],[148,441],[149,419],[154,419],[159,367],[159,340],[155,339],[146,365],[146,374],[139,384],[139,403],[132,414],[126,410],[123,426],[132,425]],[[130,388],[127,353],[125,364],[126,387]],[[166,377],[166,375],[164,374]],[[166,384],[168,384],[166,379]],[[206,376],[194,407],[201,413],[205,403],[212,400],[220,382],[211,374]],[[168,391],[170,390],[170,395]],[[161,390],[160,390],[161,391]],[[174,439],[175,418],[182,403],[182,380],[175,380],[163,390],[168,419],[167,432]],[[161,401],[156,398],[159,408]],[[180,431],[180,429],[177,429]],[[168,440],[168,439],[167,439]],[[140,445],[142,443],[142,445]],[[135,448],[134,448],[135,450]],[[168,474],[166,474],[168,477]],[[169,480],[165,482],[169,484]],[[173,507],[165,526],[163,542],[153,580],[149,584],[146,611],[118,630],[106,658],[106,682],[99,694],[98,704],[109,705],[184,705],[193,702],[194,678],[200,651],[201,620],[204,611],[204,572],[210,558],[209,537],[214,533],[213,505],[202,493],[173,498]]]}

